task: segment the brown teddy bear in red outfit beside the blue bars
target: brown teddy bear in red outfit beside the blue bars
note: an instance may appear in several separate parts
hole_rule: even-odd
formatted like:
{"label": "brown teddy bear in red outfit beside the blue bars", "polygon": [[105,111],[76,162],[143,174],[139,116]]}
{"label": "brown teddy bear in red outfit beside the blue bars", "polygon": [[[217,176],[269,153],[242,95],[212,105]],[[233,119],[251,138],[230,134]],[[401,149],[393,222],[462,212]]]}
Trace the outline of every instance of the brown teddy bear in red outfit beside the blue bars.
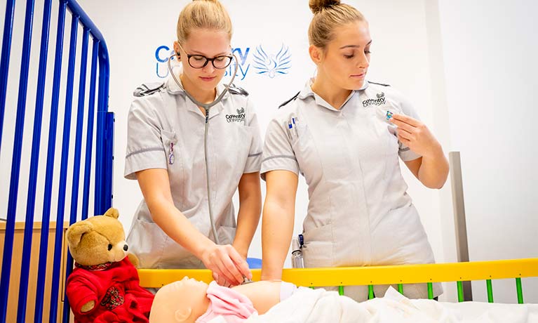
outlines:
{"label": "brown teddy bear in red outfit beside the blue bars", "polygon": [[75,322],[148,322],[154,295],[140,286],[118,217],[110,208],[65,233],[75,261],[66,285]]}

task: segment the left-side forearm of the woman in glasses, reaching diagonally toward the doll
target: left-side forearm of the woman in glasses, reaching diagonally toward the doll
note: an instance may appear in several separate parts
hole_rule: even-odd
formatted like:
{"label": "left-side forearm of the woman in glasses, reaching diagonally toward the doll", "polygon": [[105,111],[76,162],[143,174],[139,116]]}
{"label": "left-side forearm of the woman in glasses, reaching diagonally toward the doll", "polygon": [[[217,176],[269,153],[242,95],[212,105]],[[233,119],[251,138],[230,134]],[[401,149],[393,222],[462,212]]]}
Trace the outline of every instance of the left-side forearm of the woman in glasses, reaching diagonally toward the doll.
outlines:
{"label": "left-side forearm of the woman in glasses, reaching diagonally toward the doll", "polygon": [[154,222],[175,242],[201,258],[203,251],[213,246],[208,237],[192,225],[192,223],[168,199],[146,199]]}

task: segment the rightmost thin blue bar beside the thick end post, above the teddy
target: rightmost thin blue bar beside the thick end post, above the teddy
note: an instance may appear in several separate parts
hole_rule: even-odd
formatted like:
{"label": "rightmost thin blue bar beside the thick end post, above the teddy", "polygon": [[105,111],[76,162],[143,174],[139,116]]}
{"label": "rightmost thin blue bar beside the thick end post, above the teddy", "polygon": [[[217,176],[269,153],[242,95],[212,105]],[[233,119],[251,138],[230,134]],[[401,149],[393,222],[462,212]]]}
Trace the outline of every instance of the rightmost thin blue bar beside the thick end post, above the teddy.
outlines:
{"label": "rightmost thin blue bar beside the thick end post, above the teddy", "polygon": [[93,148],[93,120],[95,115],[95,84],[97,80],[97,55],[99,55],[99,41],[93,40],[92,64],[90,74],[90,98],[88,100],[88,124],[86,126],[86,161],[84,162],[84,185],[82,193],[82,220],[88,218],[88,205],[90,199],[91,152]]}

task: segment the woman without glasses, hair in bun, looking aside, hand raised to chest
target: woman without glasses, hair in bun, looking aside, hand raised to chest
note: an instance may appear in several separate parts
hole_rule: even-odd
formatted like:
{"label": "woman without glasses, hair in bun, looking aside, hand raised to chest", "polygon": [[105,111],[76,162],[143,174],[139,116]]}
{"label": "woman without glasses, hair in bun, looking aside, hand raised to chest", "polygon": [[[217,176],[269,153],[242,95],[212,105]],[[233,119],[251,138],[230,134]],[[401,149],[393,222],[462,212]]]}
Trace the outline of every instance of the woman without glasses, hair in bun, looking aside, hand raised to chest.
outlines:
{"label": "woman without glasses, hair in bun, looking aside, hand raised to chest", "polygon": [[[426,187],[440,188],[448,176],[443,149],[400,94],[366,81],[372,39],[363,15],[335,0],[311,0],[310,8],[317,75],[281,106],[265,138],[262,279],[281,277],[299,173],[309,187],[305,267],[433,263],[398,157]],[[386,288],[375,286],[375,295]],[[344,293],[368,295],[358,286]],[[428,295],[425,285],[405,284],[404,293]]]}

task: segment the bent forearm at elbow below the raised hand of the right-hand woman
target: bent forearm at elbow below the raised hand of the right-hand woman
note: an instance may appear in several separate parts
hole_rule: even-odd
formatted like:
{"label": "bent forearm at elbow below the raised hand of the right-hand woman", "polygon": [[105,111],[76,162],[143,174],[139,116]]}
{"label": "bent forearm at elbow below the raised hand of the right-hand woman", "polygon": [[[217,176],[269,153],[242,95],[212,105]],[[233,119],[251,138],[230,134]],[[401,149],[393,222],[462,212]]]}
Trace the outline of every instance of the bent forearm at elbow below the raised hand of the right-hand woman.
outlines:
{"label": "bent forearm at elbow below the raised hand of the right-hand woman", "polygon": [[441,188],[448,177],[448,160],[443,148],[438,145],[431,154],[422,157],[418,178],[424,186]]}

